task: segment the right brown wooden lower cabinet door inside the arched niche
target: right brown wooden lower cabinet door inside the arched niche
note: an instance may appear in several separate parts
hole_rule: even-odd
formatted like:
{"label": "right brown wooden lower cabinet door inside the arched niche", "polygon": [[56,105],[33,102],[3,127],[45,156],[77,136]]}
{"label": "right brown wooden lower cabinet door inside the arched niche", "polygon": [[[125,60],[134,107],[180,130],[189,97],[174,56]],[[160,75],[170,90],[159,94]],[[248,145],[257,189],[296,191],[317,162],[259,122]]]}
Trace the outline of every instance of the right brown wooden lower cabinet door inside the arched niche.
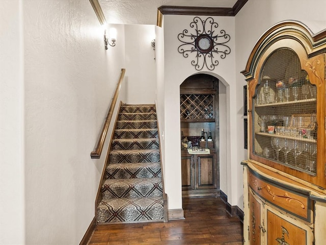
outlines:
{"label": "right brown wooden lower cabinet door inside the arched niche", "polygon": [[198,188],[216,187],[214,156],[198,156]]}

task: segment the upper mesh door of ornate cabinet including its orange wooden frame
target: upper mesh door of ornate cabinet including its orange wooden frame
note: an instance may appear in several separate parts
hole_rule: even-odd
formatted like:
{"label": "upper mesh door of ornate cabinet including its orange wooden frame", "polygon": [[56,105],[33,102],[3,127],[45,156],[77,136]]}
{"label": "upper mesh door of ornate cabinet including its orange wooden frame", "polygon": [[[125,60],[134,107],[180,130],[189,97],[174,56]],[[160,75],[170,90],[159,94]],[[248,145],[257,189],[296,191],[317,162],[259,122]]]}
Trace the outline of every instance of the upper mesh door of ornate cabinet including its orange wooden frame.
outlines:
{"label": "upper mesh door of ornate cabinet including its orange wooden frame", "polygon": [[249,81],[250,159],[326,188],[325,55],[277,44]]}

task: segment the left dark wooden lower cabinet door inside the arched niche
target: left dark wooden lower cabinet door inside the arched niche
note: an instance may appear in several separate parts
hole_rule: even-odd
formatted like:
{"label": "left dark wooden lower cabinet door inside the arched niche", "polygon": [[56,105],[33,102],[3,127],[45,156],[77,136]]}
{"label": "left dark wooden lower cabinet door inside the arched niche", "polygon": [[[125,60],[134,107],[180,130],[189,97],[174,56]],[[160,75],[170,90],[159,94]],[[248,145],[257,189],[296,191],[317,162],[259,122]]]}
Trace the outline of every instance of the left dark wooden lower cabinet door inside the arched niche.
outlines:
{"label": "left dark wooden lower cabinet door inside the arched niche", "polygon": [[195,188],[194,174],[194,157],[181,156],[181,183],[183,190]]}

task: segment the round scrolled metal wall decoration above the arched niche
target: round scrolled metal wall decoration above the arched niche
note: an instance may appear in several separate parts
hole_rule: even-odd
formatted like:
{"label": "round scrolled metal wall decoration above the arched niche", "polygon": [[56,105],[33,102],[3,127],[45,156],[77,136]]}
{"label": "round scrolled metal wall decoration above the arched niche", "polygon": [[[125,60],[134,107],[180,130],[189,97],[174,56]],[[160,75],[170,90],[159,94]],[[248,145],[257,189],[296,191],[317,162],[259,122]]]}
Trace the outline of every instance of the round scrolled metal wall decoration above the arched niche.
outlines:
{"label": "round scrolled metal wall decoration above the arched niche", "polygon": [[191,30],[185,29],[178,34],[178,39],[182,42],[178,52],[184,58],[188,58],[189,54],[196,54],[191,62],[196,70],[201,70],[204,66],[213,70],[219,64],[218,58],[224,59],[231,52],[226,45],[230,41],[230,35],[224,30],[218,32],[219,24],[212,17],[202,20],[197,16],[190,27]]}

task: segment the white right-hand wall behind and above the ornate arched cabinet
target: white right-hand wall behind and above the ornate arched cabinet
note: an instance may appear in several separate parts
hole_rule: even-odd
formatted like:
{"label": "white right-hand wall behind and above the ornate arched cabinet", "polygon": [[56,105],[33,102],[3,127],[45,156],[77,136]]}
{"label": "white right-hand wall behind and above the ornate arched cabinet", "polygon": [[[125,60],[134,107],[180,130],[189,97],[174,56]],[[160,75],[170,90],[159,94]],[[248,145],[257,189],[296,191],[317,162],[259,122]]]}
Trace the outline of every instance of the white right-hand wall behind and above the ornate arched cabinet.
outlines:
{"label": "white right-hand wall behind and above the ornate arched cabinet", "polygon": [[[233,174],[242,180],[242,166],[240,161],[247,159],[247,152],[243,149],[243,102],[242,88],[246,85],[244,76],[240,74],[247,64],[250,53],[254,45],[274,24],[284,20],[297,20],[305,23],[314,32],[317,33],[326,28],[326,1],[325,0],[249,0],[246,5],[235,16],[235,33],[236,33],[236,128],[239,140],[237,148],[239,149],[236,157],[238,165],[233,169]],[[231,183],[232,185],[234,183]],[[242,183],[238,181],[235,189],[237,189],[237,200],[232,205],[243,208],[243,199],[241,197]]]}

